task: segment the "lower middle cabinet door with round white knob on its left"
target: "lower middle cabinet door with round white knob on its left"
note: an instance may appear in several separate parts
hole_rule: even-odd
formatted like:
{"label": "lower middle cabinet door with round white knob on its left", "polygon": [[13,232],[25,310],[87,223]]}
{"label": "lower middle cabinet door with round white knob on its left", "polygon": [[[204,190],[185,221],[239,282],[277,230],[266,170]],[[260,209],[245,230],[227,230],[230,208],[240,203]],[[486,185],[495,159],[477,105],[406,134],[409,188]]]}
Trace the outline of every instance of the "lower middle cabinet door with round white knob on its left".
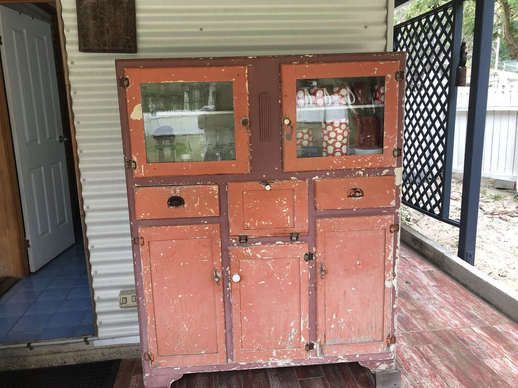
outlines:
{"label": "lower middle cabinet door with round white knob on its left", "polygon": [[300,243],[230,248],[235,362],[307,357],[307,250]]}

